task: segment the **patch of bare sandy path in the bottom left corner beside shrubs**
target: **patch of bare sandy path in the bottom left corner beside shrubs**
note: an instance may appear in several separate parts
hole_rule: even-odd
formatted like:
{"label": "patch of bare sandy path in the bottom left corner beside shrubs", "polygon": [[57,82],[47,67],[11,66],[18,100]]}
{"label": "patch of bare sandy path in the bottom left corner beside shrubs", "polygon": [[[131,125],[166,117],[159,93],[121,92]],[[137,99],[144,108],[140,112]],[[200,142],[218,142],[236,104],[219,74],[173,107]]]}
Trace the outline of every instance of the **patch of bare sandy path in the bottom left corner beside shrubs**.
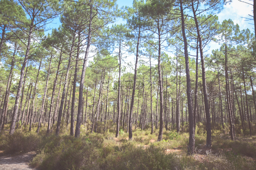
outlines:
{"label": "patch of bare sandy path in the bottom left corner beside shrubs", "polygon": [[[2,151],[0,151],[1,154]],[[1,170],[35,170],[29,166],[36,152],[28,152],[18,155],[0,155]]]}

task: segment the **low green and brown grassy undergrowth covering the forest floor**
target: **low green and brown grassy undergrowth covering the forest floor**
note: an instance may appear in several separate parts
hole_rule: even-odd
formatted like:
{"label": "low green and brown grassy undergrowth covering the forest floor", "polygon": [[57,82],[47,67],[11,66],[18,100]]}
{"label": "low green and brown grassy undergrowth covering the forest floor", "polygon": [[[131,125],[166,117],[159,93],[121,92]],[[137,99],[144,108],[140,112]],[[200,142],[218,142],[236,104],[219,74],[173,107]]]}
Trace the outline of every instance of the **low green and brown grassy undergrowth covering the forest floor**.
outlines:
{"label": "low green and brown grassy undergrowth covering the forest floor", "polygon": [[[7,125],[8,126],[8,125]],[[88,127],[81,126],[80,138],[69,135],[69,129],[61,126],[61,134],[54,131],[46,135],[46,127],[39,134],[27,127],[18,129],[12,136],[3,130],[0,135],[0,150],[4,153],[36,151],[30,165],[49,170],[86,169],[255,169],[256,136],[237,135],[235,141],[229,139],[226,129],[212,130],[212,147],[204,148],[206,133],[203,124],[198,124],[195,146],[205,149],[203,154],[186,154],[189,133],[179,134],[175,130],[163,131],[163,140],[158,139],[159,129],[153,134],[151,129],[134,129],[133,141],[128,141],[128,133],[115,138],[115,125],[108,122],[108,131],[98,126],[100,133],[90,133]],[[186,125],[184,125],[184,129]],[[216,126],[217,127],[217,126]],[[166,153],[166,150],[171,153]],[[176,151],[179,152],[176,152]],[[215,151],[215,152],[211,152]]]}

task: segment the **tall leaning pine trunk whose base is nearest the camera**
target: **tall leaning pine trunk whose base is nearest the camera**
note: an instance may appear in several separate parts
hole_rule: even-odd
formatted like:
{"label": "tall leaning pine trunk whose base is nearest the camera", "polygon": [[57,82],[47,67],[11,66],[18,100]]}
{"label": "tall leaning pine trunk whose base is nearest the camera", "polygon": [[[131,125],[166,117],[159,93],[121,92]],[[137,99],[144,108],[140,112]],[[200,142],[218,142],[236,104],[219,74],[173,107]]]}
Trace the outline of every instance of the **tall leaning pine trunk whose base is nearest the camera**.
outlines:
{"label": "tall leaning pine trunk whose base is nearest the camera", "polygon": [[186,65],[186,79],[187,79],[187,104],[188,104],[188,117],[189,117],[189,142],[188,142],[188,153],[193,154],[195,150],[195,129],[194,129],[194,115],[193,115],[193,104],[191,94],[191,80],[189,71],[189,60],[187,51],[187,38],[185,33],[185,23],[182,1],[180,0],[181,7],[181,30],[184,41],[184,54],[185,54],[185,65]]}

